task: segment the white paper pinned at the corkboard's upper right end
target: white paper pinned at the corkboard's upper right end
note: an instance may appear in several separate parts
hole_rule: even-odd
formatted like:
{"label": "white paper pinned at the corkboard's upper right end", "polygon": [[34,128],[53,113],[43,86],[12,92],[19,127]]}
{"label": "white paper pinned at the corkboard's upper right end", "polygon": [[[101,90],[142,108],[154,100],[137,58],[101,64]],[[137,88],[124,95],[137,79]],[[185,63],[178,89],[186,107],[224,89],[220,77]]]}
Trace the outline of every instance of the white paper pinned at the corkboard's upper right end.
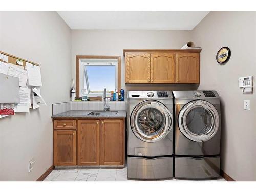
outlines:
{"label": "white paper pinned at the corkboard's upper right end", "polygon": [[40,67],[26,62],[28,86],[42,86]]}

